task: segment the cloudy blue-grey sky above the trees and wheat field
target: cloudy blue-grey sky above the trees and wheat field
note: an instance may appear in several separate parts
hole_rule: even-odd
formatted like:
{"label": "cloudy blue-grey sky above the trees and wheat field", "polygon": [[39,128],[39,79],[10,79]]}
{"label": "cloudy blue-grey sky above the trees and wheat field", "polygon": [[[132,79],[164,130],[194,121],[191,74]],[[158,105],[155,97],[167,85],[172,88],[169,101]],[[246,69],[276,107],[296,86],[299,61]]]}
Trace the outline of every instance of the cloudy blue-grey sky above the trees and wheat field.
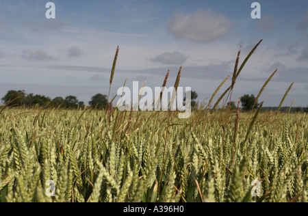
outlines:
{"label": "cloudy blue-grey sky above the trees and wheat field", "polygon": [[[8,90],[75,95],[88,103],[107,94],[116,46],[120,46],[112,94],[127,79],[160,86],[170,70],[174,85],[190,86],[207,101],[263,39],[238,78],[233,100],[259,93],[277,106],[308,105],[308,2],[258,1],[261,19],[251,18],[253,1],[53,1],[55,20],[45,18],[48,1],[0,0],[0,98]],[[231,82],[231,80],[229,80]],[[227,84],[228,85],[228,84]],[[224,88],[222,87],[222,91]]]}

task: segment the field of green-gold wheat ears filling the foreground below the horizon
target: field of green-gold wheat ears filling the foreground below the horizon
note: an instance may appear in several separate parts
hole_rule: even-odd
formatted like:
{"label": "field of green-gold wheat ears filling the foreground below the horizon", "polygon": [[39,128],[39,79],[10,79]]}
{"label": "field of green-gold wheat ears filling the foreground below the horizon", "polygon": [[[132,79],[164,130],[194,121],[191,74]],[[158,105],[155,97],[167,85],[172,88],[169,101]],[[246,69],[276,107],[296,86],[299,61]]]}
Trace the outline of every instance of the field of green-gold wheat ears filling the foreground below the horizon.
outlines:
{"label": "field of green-gold wheat ears filling the foreground below the horizon", "polygon": [[5,109],[0,200],[307,202],[307,116],[256,113]]}

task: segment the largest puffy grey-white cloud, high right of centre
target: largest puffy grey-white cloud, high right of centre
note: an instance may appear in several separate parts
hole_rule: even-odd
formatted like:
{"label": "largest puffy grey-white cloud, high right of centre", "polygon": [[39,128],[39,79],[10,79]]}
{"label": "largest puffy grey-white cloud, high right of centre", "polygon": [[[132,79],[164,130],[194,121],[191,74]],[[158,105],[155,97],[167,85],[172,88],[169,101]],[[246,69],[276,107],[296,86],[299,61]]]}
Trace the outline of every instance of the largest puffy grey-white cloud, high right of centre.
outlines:
{"label": "largest puffy grey-white cloud, high right of centre", "polygon": [[168,23],[168,32],[178,38],[195,42],[211,42],[225,36],[232,21],[211,10],[196,10],[186,16],[177,12]]}

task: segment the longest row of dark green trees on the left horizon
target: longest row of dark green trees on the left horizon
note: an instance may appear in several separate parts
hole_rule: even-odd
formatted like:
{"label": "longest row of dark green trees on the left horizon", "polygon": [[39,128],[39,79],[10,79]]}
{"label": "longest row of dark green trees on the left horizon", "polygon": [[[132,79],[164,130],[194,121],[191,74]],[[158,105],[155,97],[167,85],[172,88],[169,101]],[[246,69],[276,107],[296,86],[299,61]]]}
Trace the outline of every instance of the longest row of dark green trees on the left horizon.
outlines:
{"label": "longest row of dark green trees on the left horizon", "polygon": [[[3,96],[3,98],[1,98],[1,100],[3,103],[8,103],[9,101],[14,100],[14,102],[10,103],[10,107],[34,107],[36,105],[40,107],[61,107],[64,109],[77,109],[78,107],[85,107],[84,102],[79,101],[76,96],[69,95],[65,98],[58,96],[51,99],[48,96],[40,94],[27,94],[25,90],[10,90],[5,94],[5,96]],[[107,96],[104,94],[96,94],[92,96],[91,100],[89,101],[89,105],[97,109],[104,109],[107,107],[107,103]]]}

